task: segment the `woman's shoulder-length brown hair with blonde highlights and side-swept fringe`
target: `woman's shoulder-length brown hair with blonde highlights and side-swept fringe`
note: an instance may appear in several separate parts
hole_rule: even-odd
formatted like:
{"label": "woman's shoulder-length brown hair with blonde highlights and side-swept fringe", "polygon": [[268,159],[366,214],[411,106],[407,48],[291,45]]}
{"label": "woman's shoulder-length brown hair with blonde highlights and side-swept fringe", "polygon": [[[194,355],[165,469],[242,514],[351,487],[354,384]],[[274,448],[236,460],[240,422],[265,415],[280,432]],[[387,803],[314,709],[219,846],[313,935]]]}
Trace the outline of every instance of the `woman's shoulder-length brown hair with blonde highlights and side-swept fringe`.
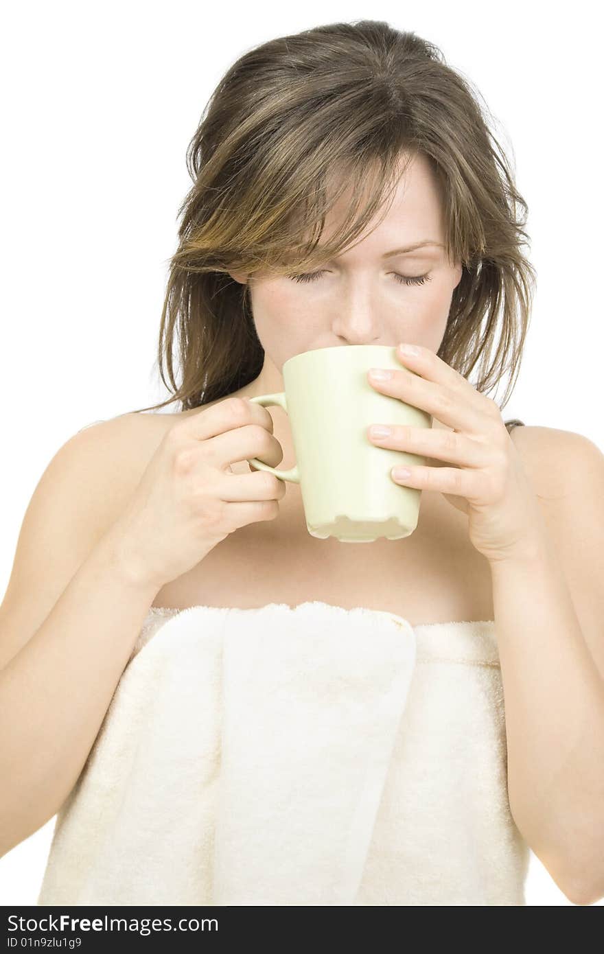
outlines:
{"label": "woman's shoulder-length brown hair with blonde highlights and side-swept fringe", "polygon": [[[522,251],[528,207],[478,95],[432,43],[375,20],[316,27],[240,56],[187,149],[194,184],[178,210],[157,351],[174,396],[135,413],[173,401],[188,410],[257,378],[264,350],[249,287],[228,273],[253,280],[336,258],[383,206],[387,213],[402,158],[404,169],[416,154],[440,184],[448,259],[463,265],[438,355],[465,377],[478,364],[483,393],[509,372],[505,405],[535,272]],[[317,248],[326,213],[349,189],[341,229]]]}

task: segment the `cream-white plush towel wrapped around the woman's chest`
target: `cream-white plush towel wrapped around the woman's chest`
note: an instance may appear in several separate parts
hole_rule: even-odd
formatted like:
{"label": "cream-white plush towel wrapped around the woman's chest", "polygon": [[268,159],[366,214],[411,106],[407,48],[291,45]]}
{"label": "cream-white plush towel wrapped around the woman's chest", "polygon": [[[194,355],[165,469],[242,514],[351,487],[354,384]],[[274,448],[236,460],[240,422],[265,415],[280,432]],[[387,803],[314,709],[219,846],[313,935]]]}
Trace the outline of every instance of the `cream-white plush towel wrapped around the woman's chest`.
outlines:
{"label": "cream-white plush towel wrapped around the woman's chest", "polygon": [[492,623],[150,612],[38,904],[524,904]]}

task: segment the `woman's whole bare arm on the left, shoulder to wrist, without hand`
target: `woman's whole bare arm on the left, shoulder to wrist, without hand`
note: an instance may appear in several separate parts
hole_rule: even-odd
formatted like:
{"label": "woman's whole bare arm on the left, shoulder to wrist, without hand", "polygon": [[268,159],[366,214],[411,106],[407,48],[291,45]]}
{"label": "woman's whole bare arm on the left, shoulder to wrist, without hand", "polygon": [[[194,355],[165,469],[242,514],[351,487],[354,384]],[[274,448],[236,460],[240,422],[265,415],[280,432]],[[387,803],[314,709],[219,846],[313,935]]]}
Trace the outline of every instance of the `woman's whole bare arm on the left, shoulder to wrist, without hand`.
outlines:
{"label": "woman's whole bare arm on the left, shoulder to wrist, without hand", "polygon": [[0,607],[0,854],[72,790],[156,595],[116,523],[144,467],[145,425],[76,435],[26,512]]}

